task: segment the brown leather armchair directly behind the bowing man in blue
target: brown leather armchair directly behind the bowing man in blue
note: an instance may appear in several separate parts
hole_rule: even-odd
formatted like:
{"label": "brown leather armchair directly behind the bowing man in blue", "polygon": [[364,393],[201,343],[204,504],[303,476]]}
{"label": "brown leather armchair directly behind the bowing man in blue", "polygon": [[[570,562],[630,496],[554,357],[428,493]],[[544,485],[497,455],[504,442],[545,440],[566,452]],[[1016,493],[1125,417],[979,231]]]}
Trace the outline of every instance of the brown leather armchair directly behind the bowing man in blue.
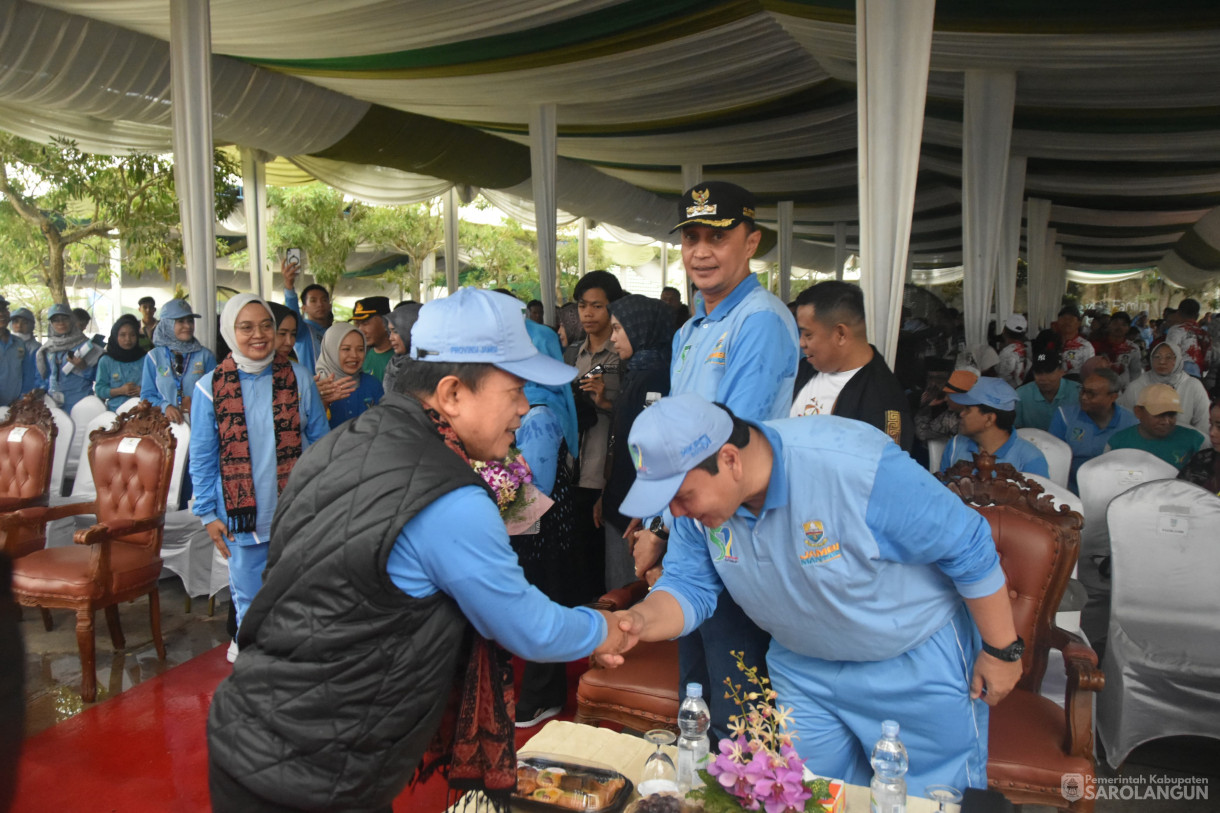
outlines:
{"label": "brown leather armchair directly behind the bowing man in blue", "polygon": [[[1086,782],[1094,776],[1092,692],[1105,679],[1097,653],[1054,624],[1080,553],[1083,520],[1066,507],[1055,509],[1039,485],[986,453],[974,465],[961,461],[938,476],[991,524],[1016,631],[1026,645],[1021,681],[991,709],[988,785],[1014,804],[1087,813],[1093,800],[1069,801],[1063,781],[1065,774],[1081,774]],[[1052,647],[1063,653],[1068,670],[1064,708],[1038,693]]]}

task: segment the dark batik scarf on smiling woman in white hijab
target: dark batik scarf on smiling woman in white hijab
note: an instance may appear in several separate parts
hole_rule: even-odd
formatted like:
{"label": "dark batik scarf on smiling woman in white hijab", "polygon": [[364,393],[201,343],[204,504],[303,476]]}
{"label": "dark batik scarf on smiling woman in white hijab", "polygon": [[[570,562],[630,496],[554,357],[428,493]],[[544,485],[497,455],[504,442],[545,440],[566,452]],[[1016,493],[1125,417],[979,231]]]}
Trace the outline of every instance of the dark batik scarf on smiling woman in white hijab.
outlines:
{"label": "dark batik scarf on smiling woman in white hijab", "polygon": [[[300,394],[296,374],[288,359],[271,364],[271,417],[276,431],[276,493],[283,491],[288,475],[301,457]],[[242,381],[237,361],[229,354],[212,371],[212,405],[220,435],[221,490],[224,513],[233,533],[251,533],[257,520],[254,498],[254,466],[250,463],[250,435],[245,424]]]}

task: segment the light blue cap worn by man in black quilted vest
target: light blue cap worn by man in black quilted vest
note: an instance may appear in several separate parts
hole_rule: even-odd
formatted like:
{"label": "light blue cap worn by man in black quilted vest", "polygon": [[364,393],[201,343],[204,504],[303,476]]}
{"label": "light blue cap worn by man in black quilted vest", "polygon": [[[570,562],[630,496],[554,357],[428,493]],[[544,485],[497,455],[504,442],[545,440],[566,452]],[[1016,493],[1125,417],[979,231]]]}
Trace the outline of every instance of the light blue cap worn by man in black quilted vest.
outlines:
{"label": "light blue cap worn by man in black quilted vest", "polygon": [[538,352],[526,331],[525,310],[508,294],[459,288],[420,308],[411,327],[411,358],[492,364],[534,383],[566,385],[576,367]]}

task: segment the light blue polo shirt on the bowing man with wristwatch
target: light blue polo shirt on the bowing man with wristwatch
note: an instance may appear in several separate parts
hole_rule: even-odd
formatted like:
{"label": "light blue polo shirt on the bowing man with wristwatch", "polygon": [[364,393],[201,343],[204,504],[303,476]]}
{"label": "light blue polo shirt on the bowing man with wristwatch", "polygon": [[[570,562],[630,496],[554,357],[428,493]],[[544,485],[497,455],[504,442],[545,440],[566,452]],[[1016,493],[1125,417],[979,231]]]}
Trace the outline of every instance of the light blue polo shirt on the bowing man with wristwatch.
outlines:
{"label": "light blue polo shirt on the bowing man with wristwatch", "polygon": [[886,433],[834,415],[758,428],[775,453],[758,516],[742,507],[714,529],[667,516],[656,590],[681,605],[683,635],[726,587],[792,652],[886,660],[1004,586],[987,520]]}

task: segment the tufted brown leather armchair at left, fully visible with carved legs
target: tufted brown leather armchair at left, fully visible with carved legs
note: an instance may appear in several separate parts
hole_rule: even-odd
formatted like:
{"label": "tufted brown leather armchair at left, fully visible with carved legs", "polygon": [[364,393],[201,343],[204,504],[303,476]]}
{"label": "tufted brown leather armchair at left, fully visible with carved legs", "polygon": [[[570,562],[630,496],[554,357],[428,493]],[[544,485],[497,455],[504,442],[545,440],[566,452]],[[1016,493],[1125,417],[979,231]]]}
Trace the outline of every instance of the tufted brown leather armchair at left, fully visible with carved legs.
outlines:
{"label": "tufted brown leather armchair at left, fully visible with carved legs", "polygon": [[[116,649],[126,646],[118,604],[149,597],[149,620],[157,657],[165,658],[157,579],[161,532],[176,441],[170,421],[146,402],[118,416],[115,426],[89,437],[89,466],[98,497],[89,503],[23,508],[6,518],[16,530],[41,529],[61,516],[94,514],[67,547],[43,548],[13,562],[12,591],[27,607],[67,608],[77,614],[81,696],[94,701],[94,612],[106,613]],[[7,543],[6,543],[7,548]],[[44,614],[45,618],[45,614]]]}

